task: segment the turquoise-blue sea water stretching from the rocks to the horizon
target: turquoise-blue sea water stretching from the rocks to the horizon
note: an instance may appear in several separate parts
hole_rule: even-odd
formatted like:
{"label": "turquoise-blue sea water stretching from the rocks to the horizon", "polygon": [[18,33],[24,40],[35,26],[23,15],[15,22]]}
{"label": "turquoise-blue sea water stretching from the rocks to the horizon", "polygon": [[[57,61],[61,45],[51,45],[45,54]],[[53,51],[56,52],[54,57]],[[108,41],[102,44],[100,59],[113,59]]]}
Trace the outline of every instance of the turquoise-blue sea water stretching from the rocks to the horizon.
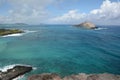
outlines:
{"label": "turquoise-blue sea water stretching from the rocks to the horizon", "polygon": [[26,76],[54,72],[120,74],[120,26],[85,30],[69,25],[0,26],[35,31],[0,37],[0,67],[27,64],[36,67]]}

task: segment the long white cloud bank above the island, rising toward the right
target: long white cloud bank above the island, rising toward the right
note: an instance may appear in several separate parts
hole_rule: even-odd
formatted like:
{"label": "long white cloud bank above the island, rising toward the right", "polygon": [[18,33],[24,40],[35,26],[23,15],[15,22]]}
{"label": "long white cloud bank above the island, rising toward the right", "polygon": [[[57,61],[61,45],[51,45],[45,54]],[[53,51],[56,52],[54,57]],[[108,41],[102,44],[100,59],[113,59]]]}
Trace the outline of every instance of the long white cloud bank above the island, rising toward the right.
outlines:
{"label": "long white cloud bank above the island, rising toward the right", "polygon": [[56,23],[80,23],[82,21],[93,21],[96,24],[118,24],[120,25],[120,2],[103,1],[99,9],[94,9],[88,14],[79,13],[77,10],[70,10],[62,16],[52,18]]}

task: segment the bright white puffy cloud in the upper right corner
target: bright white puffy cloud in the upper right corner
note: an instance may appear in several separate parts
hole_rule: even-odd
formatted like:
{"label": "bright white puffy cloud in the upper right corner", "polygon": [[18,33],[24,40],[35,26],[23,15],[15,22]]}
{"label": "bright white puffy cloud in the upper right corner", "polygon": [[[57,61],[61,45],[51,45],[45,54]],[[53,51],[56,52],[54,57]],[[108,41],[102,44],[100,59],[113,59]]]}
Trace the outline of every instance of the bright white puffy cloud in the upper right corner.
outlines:
{"label": "bright white puffy cloud in the upper right corner", "polygon": [[101,5],[100,9],[95,9],[90,12],[97,15],[99,19],[117,19],[120,18],[120,2],[111,2],[106,0]]}

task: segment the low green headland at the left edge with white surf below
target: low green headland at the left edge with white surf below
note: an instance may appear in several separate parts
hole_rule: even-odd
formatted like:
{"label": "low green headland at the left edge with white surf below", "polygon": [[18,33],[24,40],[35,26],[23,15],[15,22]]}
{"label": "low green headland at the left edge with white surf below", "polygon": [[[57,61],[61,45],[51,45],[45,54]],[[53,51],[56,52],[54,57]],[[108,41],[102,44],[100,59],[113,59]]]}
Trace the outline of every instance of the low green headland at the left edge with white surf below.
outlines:
{"label": "low green headland at the left edge with white surf below", "polygon": [[19,29],[0,29],[0,36],[5,36],[9,34],[24,33],[24,31]]}

